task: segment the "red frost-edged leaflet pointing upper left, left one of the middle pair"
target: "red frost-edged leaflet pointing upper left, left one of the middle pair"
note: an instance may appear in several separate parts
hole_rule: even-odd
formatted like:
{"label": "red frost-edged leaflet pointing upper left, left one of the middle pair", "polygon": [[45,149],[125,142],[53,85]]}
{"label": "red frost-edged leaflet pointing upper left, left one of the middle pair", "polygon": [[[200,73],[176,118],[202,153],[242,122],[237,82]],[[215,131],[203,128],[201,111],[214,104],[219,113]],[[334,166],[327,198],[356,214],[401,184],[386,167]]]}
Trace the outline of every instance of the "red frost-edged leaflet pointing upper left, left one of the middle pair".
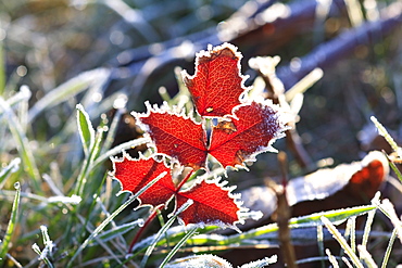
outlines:
{"label": "red frost-edged leaflet pointing upper left, left one of the middle pair", "polygon": [[158,153],[166,154],[185,166],[205,167],[206,133],[201,124],[167,109],[148,107],[147,114],[134,116],[142,123],[154,142]]}

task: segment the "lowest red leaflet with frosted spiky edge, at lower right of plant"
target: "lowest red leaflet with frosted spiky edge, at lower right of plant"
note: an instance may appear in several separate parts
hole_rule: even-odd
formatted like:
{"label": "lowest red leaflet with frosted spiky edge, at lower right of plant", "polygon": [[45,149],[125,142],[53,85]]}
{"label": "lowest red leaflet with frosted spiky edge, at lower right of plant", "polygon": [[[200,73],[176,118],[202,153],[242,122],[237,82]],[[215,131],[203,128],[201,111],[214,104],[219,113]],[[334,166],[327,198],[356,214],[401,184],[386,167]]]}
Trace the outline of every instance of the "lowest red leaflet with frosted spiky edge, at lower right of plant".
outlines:
{"label": "lowest red leaflet with frosted spiky edge, at lower right of plant", "polygon": [[176,195],[176,207],[180,207],[187,200],[193,204],[180,214],[181,220],[188,224],[224,225],[236,228],[235,224],[242,221],[239,217],[240,206],[231,189],[223,188],[217,180],[205,181],[193,186]]}

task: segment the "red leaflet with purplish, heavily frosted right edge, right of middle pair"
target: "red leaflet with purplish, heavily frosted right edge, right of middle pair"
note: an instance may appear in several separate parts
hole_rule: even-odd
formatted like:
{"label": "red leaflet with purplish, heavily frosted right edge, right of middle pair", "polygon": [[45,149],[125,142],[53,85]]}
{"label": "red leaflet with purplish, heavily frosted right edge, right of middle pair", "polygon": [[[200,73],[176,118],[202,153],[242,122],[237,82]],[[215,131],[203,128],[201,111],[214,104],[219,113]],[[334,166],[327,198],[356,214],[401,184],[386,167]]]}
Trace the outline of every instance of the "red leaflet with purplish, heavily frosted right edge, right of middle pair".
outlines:
{"label": "red leaflet with purplish, heavily frosted right edge, right of middle pair", "polygon": [[285,129],[271,103],[241,105],[235,115],[237,118],[231,122],[218,123],[211,135],[209,153],[224,167],[254,161],[256,154],[271,149]]}

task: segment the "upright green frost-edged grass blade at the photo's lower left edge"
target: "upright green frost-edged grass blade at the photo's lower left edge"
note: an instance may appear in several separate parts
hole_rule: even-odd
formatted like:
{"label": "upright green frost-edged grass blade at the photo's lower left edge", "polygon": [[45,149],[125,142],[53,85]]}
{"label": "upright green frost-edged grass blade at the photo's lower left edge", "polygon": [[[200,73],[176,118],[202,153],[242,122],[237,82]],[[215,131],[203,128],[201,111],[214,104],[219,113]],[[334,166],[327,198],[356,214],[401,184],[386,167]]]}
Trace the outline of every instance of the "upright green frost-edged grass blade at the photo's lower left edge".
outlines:
{"label": "upright green frost-edged grass blade at the photo's lower left edge", "polygon": [[15,229],[15,226],[17,224],[17,216],[18,216],[18,206],[20,206],[20,199],[21,199],[21,187],[20,182],[15,182],[15,197],[13,202],[13,207],[11,209],[11,217],[9,220],[9,225],[5,230],[4,239],[1,242],[0,246],[0,265],[4,261],[4,257],[9,251],[9,245]]}

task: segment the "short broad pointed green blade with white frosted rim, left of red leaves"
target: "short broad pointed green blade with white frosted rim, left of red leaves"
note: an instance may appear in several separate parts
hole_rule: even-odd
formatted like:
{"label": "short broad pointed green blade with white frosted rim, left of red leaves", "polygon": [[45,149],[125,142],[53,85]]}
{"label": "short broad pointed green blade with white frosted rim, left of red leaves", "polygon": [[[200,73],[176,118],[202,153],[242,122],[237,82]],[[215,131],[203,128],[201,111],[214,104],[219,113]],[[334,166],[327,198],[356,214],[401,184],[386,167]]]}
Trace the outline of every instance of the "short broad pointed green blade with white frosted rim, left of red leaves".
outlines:
{"label": "short broad pointed green blade with white frosted rim, left of red leaves", "polygon": [[81,104],[77,104],[77,125],[79,137],[83,142],[84,152],[88,156],[95,143],[95,129]]}

